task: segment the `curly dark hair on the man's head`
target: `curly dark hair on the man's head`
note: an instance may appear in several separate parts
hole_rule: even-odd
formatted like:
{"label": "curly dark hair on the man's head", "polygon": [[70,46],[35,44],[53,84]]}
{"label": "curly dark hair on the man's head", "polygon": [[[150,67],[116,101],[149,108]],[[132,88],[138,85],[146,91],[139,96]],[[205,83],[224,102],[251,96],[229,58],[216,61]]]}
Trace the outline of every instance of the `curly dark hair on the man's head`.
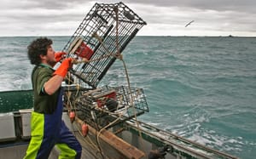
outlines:
{"label": "curly dark hair on the man's head", "polygon": [[41,63],[40,54],[46,55],[47,49],[52,44],[52,40],[47,37],[39,37],[27,46],[27,55],[32,65]]}

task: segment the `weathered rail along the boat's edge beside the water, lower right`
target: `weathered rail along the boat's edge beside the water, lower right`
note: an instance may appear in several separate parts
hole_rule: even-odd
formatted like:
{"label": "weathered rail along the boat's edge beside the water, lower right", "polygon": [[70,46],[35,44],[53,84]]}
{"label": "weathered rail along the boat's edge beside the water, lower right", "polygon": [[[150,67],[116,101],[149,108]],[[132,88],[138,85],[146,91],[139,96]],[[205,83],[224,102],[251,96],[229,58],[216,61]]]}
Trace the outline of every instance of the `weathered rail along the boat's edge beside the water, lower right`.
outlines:
{"label": "weathered rail along the boat's edge beside the water, lower right", "polygon": [[[137,128],[136,121],[129,121],[125,122],[127,125],[125,126],[131,131],[135,131],[139,133],[143,133],[144,135],[150,136],[153,139],[160,139],[162,144],[170,145],[172,147],[172,152],[177,151],[183,151],[191,158],[206,158],[206,159],[212,159],[212,158],[224,158],[224,159],[238,159],[236,156],[231,156],[230,154],[226,154],[219,150],[214,150],[210,147],[207,147],[205,145],[201,145],[199,143],[196,143],[194,141],[191,141],[189,139],[185,139],[181,136],[178,136],[177,134],[167,132],[165,130],[162,130],[160,128],[155,128],[152,125],[149,125],[145,122],[137,121],[140,125],[140,129]],[[192,155],[194,155],[192,157]]]}

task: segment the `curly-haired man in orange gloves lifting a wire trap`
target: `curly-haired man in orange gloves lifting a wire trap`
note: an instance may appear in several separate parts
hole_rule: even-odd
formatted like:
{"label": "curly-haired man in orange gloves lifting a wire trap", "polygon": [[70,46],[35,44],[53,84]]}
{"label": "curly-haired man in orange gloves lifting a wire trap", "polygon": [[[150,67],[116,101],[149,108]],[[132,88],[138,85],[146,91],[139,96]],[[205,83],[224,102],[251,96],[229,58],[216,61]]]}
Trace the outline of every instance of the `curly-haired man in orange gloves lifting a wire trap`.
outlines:
{"label": "curly-haired man in orange gloves lifting a wire trap", "polygon": [[[81,158],[82,147],[73,133],[61,120],[63,91],[61,82],[72,66],[71,58],[64,58],[64,52],[55,53],[52,40],[39,37],[27,47],[28,58],[32,65],[32,88],[34,106],[31,119],[31,141],[24,159],[48,158],[56,145],[59,158]],[[62,60],[54,70],[54,65]]]}

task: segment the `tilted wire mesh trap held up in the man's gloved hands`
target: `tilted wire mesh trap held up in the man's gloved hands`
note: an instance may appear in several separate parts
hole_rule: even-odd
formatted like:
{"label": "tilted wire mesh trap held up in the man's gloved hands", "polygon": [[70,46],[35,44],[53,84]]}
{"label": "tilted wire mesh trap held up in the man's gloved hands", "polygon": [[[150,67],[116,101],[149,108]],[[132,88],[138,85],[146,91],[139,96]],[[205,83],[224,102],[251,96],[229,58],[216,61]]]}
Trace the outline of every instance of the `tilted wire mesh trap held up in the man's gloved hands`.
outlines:
{"label": "tilted wire mesh trap held up in the man's gloved hands", "polygon": [[96,88],[146,22],[124,3],[96,3],[63,48],[78,59],[70,71],[82,87]]}

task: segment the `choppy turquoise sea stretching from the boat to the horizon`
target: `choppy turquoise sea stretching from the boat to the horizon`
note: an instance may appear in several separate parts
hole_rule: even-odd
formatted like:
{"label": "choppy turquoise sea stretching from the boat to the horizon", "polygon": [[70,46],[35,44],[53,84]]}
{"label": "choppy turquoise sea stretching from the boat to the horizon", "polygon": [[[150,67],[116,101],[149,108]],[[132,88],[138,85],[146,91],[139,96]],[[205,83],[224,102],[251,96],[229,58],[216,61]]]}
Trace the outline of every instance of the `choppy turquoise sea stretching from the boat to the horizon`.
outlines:
{"label": "choppy turquoise sea stretching from the boat to the horizon", "polygon": [[[0,90],[32,88],[26,47],[0,37]],[[70,37],[49,37],[55,51]],[[243,159],[256,158],[256,37],[135,37],[123,51],[149,112],[138,119]],[[99,87],[127,85],[120,60]],[[0,105],[0,110],[4,105]]]}

